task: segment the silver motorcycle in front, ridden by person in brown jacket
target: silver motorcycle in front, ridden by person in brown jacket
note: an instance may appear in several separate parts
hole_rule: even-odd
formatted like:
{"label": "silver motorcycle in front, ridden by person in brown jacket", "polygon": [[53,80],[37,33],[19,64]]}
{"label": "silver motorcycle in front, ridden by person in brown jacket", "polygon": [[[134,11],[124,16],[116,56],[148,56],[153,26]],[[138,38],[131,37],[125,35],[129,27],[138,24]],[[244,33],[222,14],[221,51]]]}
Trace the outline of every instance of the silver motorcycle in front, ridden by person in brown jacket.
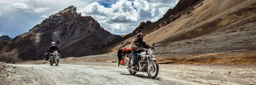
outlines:
{"label": "silver motorcycle in front, ridden by person in brown jacket", "polygon": [[[135,43],[136,45],[138,45],[138,42]],[[155,43],[153,43],[153,46],[155,45]],[[137,63],[135,64],[136,66],[134,68],[132,67],[132,63],[133,63],[133,59],[134,56],[132,54],[126,54],[124,56],[124,64],[123,65],[128,65],[128,67],[126,67],[131,75],[135,75],[137,72],[147,72],[148,77],[150,77],[151,79],[154,79],[157,77],[158,75],[158,71],[159,71],[159,66],[158,63],[156,61],[153,54],[153,49],[149,48],[149,49],[145,49],[145,48],[141,48],[139,50],[144,50],[145,52],[140,53],[140,56],[137,60]]]}

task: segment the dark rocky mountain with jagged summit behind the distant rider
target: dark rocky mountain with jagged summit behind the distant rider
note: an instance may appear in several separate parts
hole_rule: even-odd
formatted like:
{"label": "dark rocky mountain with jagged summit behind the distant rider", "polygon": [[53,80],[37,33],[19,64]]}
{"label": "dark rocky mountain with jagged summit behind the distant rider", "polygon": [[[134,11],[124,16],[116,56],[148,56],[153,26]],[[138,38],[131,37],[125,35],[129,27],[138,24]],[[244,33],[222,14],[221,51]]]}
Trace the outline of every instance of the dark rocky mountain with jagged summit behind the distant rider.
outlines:
{"label": "dark rocky mountain with jagged summit behind the distant rider", "polygon": [[29,32],[0,42],[0,62],[42,60],[51,42],[56,42],[61,58],[86,56],[118,38],[121,36],[106,31],[91,16],[81,16],[76,7],[69,6]]}

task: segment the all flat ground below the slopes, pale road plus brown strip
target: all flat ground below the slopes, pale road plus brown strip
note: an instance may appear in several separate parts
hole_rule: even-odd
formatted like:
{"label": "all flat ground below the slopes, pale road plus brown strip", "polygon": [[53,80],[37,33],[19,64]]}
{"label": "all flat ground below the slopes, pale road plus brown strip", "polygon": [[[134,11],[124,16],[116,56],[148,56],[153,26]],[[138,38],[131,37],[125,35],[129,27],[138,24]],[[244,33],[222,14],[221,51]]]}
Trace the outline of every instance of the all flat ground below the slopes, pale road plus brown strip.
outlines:
{"label": "all flat ground below the slopes, pale road plus brown strip", "polygon": [[[187,56],[187,57],[186,57]],[[256,85],[254,52],[191,55],[156,55],[159,74],[130,75],[126,66],[112,63],[116,53],[68,57],[59,66],[44,60],[0,65],[0,84],[164,84],[164,85]],[[14,68],[15,67],[15,68]],[[230,74],[229,74],[230,72]]]}

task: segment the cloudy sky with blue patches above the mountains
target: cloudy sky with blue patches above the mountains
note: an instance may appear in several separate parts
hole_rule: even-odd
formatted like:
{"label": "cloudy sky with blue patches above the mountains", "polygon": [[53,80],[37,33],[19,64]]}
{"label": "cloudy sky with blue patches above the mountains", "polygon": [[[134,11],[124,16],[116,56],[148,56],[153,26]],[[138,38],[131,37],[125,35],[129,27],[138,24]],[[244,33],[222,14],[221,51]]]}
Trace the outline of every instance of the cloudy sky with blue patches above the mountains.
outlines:
{"label": "cloudy sky with blue patches above the mountains", "polygon": [[91,16],[113,34],[132,33],[140,22],[155,22],[179,0],[0,0],[0,35],[16,37],[68,6]]}

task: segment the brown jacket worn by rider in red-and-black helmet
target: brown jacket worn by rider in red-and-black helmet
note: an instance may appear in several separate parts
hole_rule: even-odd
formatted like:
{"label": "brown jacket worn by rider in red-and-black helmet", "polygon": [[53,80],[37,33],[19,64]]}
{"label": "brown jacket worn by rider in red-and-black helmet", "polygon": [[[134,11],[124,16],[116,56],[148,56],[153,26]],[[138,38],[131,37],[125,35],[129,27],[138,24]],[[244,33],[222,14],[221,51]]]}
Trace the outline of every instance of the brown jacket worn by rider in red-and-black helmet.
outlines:
{"label": "brown jacket worn by rider in red-and-black helmet", "polygon": [[151,45],[146,44],[146,42],[144,42],[144,41],[142,43],[139,43],[138,45],[135,44],[136,42],[138,42],[138,40],[133,40],[132,41],[132,53],[134,53],[134,52],[136,52],[136,53],[144,52],[144,50],[137,50],[136,47],[141,47],[141,46],[143,48],[151,48],[151,47],[153,47]]}

